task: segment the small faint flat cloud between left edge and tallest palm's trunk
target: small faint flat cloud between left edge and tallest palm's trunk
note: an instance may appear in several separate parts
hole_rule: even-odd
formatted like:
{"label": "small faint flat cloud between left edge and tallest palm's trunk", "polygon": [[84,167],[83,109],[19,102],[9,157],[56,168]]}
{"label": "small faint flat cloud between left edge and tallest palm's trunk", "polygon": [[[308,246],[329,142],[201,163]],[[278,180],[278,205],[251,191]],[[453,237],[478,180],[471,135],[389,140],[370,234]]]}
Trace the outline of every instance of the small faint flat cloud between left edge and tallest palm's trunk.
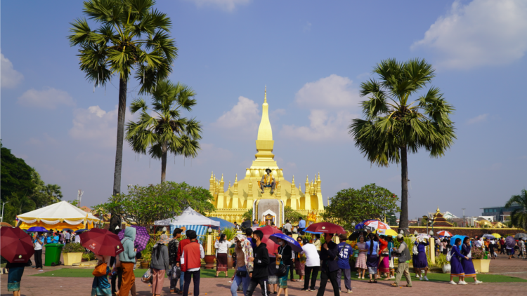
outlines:
{"label": "small faint flat cloud between left edge and tallest palm's trunk", "polygon": [[58,105],[73,106],[72,97],[64,90],[56,88],[46,88],[44,90],[34,90],[33,88],[22,93],[18,97],[18,104],[25,107],[37,107],[55,109]]}

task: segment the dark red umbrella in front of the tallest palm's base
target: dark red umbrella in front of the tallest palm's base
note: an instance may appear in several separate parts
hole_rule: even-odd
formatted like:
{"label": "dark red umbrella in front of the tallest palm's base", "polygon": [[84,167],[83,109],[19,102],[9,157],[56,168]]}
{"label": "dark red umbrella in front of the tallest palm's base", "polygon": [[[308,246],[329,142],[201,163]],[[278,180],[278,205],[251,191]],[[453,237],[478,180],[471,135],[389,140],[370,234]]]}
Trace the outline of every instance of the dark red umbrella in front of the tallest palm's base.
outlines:
{"label": "dark red umbrella in front of the tallest palm's base", "polygon": [[117,256],[123,251],[119,236],[106,229],[93,228],[79,234],[79,237],[81,245],[96,255]]}

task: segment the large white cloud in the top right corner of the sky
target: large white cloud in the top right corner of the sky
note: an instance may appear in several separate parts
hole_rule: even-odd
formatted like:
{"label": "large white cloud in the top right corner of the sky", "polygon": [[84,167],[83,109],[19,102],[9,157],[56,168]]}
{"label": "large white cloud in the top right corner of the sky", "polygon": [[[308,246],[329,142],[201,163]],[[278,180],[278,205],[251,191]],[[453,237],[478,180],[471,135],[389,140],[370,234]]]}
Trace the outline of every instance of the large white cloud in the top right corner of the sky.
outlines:
{"label": "large white cloud in the top right corner of the sky", "polygon": [[518,60],[527,51],[527,1],[456,0],[411,48],[420,47],[436,51],[439,65],[450,68]]}

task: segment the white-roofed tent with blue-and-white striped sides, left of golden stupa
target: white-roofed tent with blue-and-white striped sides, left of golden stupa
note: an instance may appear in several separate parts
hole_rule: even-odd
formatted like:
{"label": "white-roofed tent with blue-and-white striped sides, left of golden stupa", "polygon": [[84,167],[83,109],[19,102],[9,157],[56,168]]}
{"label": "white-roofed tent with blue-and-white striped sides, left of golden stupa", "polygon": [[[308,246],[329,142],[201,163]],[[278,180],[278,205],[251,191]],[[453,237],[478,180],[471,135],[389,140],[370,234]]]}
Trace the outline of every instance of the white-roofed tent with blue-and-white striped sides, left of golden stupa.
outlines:
{"label": "white-roofed tent with blue-and-white striped sides, left of golden stupa", "polygon": [[207,232],[209,227],[220,227],[220,222],[214,221],[200,213],[197,213],[193,208],[186,208],[181,215],[154,222],[155,225],[169,225],[170,234],[176,228],[185,228],[186,230],[194,230],[198,236],[202,236]]}

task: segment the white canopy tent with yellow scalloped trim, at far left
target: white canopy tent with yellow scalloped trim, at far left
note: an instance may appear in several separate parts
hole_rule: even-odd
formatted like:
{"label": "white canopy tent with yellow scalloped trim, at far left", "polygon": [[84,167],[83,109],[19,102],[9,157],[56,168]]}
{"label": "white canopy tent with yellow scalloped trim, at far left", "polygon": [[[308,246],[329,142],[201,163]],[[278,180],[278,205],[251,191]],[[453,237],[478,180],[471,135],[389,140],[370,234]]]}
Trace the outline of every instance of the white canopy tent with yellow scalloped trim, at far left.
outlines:
{"label": "white canopy tent with yellow scalloped trim, at far left", "polygon": [[20,214],[17,216],[17,221],[20,229],[40,226],[46,229],[62,230],[69,228],[75,231],[83,228],[91,229],[93,223],[100,220],[67,201],[60,201],[44,208]]}

